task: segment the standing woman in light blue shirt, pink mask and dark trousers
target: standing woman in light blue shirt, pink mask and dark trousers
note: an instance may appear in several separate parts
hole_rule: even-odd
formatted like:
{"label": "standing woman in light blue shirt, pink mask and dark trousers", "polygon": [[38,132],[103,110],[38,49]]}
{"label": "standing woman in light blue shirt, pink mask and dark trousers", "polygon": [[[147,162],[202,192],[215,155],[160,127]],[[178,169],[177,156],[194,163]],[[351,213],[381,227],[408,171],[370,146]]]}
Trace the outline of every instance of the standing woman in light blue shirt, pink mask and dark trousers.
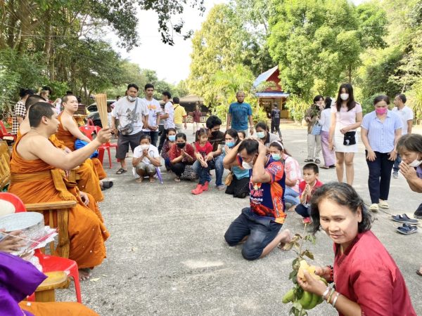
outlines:
{"label": "standing woman in light blue shirt, pink mask and dark trousers", "polygon": [[388,96],[373,99],[375,110],[364,116],[361,126],[369,169],[370,211],[378,211],[378,207],[389,208],[391,170],[397,155],[397,141],[402,136],[402,120],[388,110],[389,104]]}

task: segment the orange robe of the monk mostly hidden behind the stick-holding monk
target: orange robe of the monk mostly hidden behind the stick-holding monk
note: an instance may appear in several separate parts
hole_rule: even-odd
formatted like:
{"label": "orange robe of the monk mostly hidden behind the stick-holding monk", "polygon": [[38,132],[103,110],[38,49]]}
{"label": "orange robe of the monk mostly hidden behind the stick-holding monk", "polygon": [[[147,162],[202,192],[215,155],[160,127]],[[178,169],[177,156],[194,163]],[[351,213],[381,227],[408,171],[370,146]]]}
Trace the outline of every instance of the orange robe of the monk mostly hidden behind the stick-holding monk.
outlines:
{"label": "orange robe of the monk mostly hidden behind the stick-holding monk", "polygon": [[[53,143],[54,146],[60,149],[65,148],[65,144],[61,140],[58,140],[55,134],[51,135],[49,140],[51,140],[51,143]],[[92,195],[96,202],[103,201],[104,195],[103,192],[101,192],[100,179],[96,173],[94,162],[91,159],[85,160],[85,162],[76,169],[76,173],[79,175],[79,180],[77,180],[77,187],[79,187],[79,190]]]}

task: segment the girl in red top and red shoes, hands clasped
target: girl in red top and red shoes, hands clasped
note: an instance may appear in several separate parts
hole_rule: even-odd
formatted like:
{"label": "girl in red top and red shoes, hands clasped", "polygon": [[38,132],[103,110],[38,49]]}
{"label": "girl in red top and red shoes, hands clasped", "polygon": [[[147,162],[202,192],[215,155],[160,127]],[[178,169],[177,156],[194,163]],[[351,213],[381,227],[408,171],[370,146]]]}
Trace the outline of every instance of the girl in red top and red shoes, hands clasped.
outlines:
{"label": "girl in red top and red shoes, hands clasped", "polygon": [[199,169],[199,182],[196,188],[191,192],[193,195],[200,195],[202,192],[208,190],[207,176],[210,172],[208,162],[212,159],[210,152],[212,152],[212,145],[208,142],[208,131],[207,129],[199,129],[197,135],[198,140],[195,142],[195,157],[200,163]]}

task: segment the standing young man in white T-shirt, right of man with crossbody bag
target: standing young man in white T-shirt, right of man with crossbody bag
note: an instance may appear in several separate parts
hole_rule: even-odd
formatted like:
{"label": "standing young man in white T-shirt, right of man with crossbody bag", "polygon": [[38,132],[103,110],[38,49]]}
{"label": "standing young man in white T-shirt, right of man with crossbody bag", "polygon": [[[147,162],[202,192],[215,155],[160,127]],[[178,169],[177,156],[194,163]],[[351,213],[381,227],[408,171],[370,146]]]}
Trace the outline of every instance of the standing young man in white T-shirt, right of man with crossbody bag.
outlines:
{"label": "standing young man in white T-shirt, right of man with crossbody bag", "polygon": [[143,126],[142,131],[151,137],[151,144],[155,147],[158,140],[158,125],[160,124],[161,106],[158,100],[153,98],[153,94],[154,86],[152,84],[146,84],[145,98],[142,100],[146,103],[146,107],[148,107],[149,116],[148,122],[145,126]]}

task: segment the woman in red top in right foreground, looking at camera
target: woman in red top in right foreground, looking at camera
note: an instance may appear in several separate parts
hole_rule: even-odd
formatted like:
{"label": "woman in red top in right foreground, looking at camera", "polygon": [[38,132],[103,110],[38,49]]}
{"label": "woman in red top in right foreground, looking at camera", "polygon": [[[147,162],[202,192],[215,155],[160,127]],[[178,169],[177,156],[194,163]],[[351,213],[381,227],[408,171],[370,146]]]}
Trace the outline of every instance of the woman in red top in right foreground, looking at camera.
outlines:
{"label": "woman in red top in right foreground, looking at camera", "polygon": [[321,227],[334,242],[334,268],[316,267],[315,275],[334,282],[327,287],[307,270],[298,284],[322,296],[339,315],[416,316],[395,261],[371,232],[371,215],[357,192],[345,183],[328,183],[312,200],[314,232]]}

